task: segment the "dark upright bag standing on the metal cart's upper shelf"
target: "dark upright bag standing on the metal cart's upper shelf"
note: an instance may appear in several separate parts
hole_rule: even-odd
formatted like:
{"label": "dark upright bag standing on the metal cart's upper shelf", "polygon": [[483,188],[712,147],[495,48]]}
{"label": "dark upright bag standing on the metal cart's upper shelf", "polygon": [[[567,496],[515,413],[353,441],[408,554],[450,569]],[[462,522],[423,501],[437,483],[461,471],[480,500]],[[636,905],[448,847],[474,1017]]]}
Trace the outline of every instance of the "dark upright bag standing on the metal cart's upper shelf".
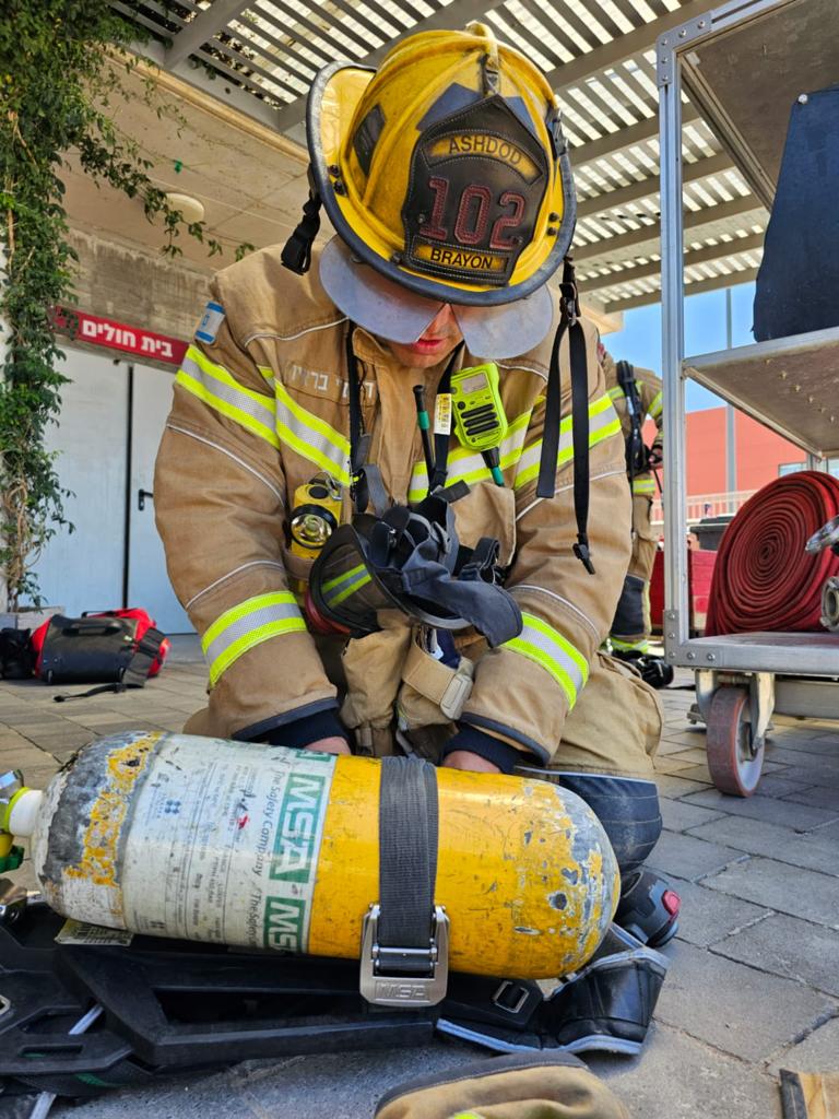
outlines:
{"label": "dark upright bag standing on the metal cart's upper shelf", "polygon": [[792,106],[757,273],[754,336],[839,325],[839,86]]}

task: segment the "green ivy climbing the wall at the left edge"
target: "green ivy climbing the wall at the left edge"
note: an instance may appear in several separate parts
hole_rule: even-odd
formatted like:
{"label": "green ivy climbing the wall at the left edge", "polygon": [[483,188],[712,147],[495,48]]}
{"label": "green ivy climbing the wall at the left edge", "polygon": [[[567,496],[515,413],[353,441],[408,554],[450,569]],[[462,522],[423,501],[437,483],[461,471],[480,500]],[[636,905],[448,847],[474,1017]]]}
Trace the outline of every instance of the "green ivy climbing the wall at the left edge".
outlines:
{"label": "green ivy climbing the wall at the left edge", "polygon": [[[0,20],[0,571],[8,608],[40,605],[32,566],[66,525],[55,455],[45,432],[66,382],[57,369],[55,309],[73,305],[76,253],[68,242],[63,172],[70,152],[83,171],[139,199],[162,225],[162,252],[180,254],[179,234],[221,245],[202,222],[188,223],[154,186],[151,163],[110,115],[138,96],[129,47],[141,38],[105,0],[7,0]],[[154,103],[153,78],[139,94]],[[155,105],[159,115],[171,113]],[[237,257],[253,248],[242,245]],[[0,339],[0,344],[2,339]],[[72,529],[72,526],[69,526]],[[2,602],[0,602],[0,608]]]}

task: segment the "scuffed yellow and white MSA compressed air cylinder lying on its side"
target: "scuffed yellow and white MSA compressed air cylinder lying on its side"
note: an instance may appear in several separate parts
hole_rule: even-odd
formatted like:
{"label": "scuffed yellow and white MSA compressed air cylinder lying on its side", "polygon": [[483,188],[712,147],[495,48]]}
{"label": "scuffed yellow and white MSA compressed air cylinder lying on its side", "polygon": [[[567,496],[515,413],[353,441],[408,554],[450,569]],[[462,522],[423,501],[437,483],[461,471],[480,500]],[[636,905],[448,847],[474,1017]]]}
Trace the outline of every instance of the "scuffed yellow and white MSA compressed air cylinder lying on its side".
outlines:
{"label": "scuffed yellow and white MSA compressed air cylinder lying on its side", "polygon": [[[3,826],[30,837],[45,899],[66,916],[358,959],[378,901],[380,772],[374,759],[134,732],[18,794]],[[436,775],[450,966],[522,979],[578,968],[618,902],[596,817],[544,781]]]}

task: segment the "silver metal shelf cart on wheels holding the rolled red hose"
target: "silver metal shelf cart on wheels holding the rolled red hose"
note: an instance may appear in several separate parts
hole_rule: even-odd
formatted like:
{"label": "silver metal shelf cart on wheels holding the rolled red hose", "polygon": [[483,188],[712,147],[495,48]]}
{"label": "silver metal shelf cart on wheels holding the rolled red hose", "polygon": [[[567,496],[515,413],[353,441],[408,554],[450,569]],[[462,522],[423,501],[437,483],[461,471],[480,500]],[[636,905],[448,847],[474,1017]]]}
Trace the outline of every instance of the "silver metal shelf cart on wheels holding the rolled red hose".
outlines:
{"label": "silver metal shelf cart on wheels holding the rolled red hose", "polygon": [[685,380],[692,377],[802,448],[839,454],[839,327],[685,357],[682,90],[771,208],[790,107],[839,83],[839,0],[729,0],[657,46],[666,440],[664,648],[696,671],[708,767],[724,792],[760,779],[773,715],[839,720],[839,633],[690,638]]}

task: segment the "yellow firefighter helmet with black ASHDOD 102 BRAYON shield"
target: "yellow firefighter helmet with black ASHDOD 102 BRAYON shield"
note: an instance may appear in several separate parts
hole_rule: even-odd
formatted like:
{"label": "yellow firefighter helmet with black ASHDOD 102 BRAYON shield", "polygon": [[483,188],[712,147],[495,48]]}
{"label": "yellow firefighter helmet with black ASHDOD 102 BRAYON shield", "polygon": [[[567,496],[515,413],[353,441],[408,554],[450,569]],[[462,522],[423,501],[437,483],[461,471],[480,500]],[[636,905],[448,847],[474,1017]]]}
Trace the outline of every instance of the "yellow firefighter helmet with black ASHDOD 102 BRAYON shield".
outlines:
{"label": "yellow firefighter helmet with black ASHDOD 102 BRAYON shield", "polygon": [[345,305],[347,282],[362,300],[369,272],[353,265],[366,264],[374,301],[383,280],[428,309],[538,292],[528,302],[544,321],[540,289],[568,250],[576,206],[556,96],[522,54],[472,23],[409,36],[378,70],[334,63],[312,85],[308,138],[314,201],[339,238],[321,279],[351,318],[364,322]]}

